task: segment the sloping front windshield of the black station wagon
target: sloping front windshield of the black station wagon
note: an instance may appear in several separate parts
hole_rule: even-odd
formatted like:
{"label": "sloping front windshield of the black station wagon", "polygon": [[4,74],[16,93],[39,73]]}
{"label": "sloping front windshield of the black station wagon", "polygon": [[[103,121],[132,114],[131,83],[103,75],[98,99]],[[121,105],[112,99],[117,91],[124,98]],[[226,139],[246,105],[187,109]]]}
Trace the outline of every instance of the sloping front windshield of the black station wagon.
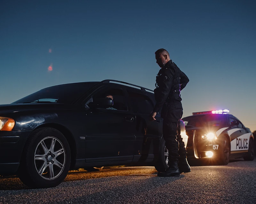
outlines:
{"label": "sloping front windshield of the black station wagon", "polygon": [[62,103],[72,104],[78,97],[89,91],[95,82],[84,82],[74,84],[63,84],[52,86],[35,93],[32,93],[24,98],[14,101],[12,104],[21,103]]}

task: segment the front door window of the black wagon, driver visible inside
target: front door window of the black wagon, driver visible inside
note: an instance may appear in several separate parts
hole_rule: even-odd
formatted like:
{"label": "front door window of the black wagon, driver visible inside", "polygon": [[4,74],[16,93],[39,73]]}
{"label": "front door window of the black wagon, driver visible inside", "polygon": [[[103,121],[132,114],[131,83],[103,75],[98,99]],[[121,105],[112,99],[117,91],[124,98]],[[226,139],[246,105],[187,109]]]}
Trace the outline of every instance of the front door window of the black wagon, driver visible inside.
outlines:
{"label": "front door window of the black wagon, driver visible inside", "polygon": [[111,98],[113,100],[113,106],[108,107],[106,109],[128,111],[126,98],[124,96],[124,91],[122,89],[104,88],[98,91],[97,93],[95,93],[88,102],[97,101],[101,98]]}

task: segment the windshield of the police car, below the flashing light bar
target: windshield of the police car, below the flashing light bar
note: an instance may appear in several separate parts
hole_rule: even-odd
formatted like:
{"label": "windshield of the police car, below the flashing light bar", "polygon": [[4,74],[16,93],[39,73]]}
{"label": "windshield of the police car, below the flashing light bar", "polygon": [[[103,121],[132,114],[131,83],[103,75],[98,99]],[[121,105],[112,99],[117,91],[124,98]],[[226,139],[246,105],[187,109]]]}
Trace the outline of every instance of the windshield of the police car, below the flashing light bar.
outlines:
{"label": "windshield of the police car, below the flashing light bar", "polygon": [[220,114],[193,115],[182,119],[186,126],[193,127],[214,127],[224,126],[225,117]]}

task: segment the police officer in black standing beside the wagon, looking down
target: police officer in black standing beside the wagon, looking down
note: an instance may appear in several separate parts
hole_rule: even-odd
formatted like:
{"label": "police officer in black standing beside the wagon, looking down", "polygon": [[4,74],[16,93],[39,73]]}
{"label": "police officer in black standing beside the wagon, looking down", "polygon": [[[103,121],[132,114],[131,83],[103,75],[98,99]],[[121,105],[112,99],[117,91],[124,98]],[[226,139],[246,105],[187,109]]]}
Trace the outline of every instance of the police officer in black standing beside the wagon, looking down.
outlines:
{"label": "police officer in black standing beside the wagon, looking down", "polygon": [[172,62],[165,49],[155,52],[156,63],[161,68],[156,76],[156,105],[150,114],[150,119],[156,120],[156,113],[162,108],[163,137],[169,151],[169,168],[158,172],[157,176],[180,176],[180,173],[190,172],[187,162],[185,144],[180,135],[180,119],[183,114],[180,91],[188,84],[188,77]]}

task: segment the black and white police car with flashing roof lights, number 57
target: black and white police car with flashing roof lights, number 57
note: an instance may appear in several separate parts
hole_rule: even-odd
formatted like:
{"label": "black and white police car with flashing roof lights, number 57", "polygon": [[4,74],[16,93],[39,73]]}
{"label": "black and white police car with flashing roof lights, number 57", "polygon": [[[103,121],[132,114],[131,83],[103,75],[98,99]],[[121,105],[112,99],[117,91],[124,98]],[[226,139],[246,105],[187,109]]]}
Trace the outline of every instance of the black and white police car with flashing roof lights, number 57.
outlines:
{"label": "black and white police car with flashing roof lights, number 57", "polygon": [[192,114],[182,118],[188,135],[188,159],[208,159],[224,165],[232,158],[254,159],[252,132],[228,109]]}

